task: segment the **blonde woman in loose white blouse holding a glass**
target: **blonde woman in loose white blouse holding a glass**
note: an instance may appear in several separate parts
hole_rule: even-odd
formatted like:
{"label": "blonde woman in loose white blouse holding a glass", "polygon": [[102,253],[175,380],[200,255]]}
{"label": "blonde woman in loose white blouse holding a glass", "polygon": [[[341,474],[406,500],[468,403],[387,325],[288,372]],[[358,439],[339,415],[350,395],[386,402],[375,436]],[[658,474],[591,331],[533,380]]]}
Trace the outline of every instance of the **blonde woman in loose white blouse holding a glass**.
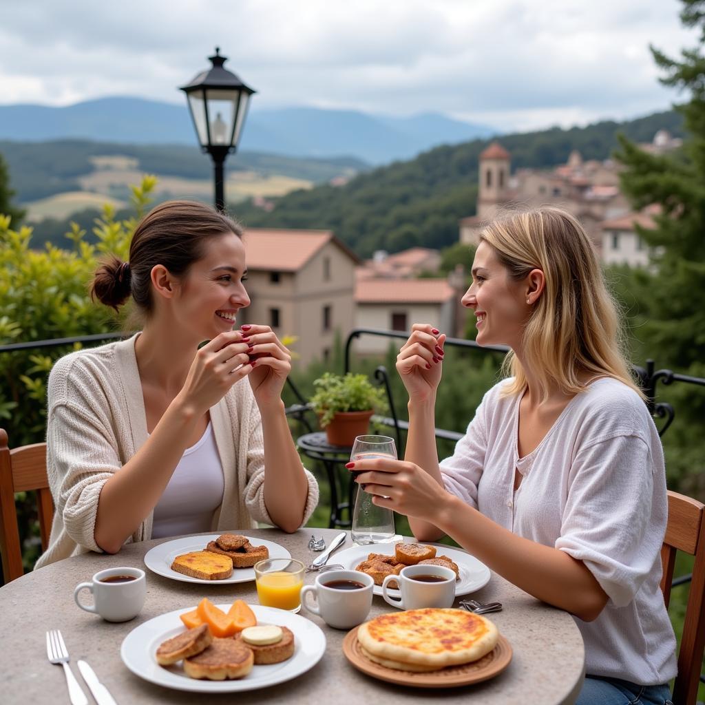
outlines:
{"label": "blonde woman in loose white blouse holding a glass", "polygon": [[586,650],[580,704],[668,701],[675,638],[660,548],[663,452],[620,352],[618,315],[593,247],[569,214],[490,223],[462,304],[480,345],[509,345],[508,379],[486,393],[439,463],[443,343],[413,326],[397,358],[409,394],[404,461],[351,463],[375,504],[443,534],[510,582],[570,612]]}

